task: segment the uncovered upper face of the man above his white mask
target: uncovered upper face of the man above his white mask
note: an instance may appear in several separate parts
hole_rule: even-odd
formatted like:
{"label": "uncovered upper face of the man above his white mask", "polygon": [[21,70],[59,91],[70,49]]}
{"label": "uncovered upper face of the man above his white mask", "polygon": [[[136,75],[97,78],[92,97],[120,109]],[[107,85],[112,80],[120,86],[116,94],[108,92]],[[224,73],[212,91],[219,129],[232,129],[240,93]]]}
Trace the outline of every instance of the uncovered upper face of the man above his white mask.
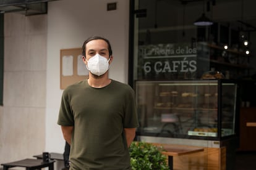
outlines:
{"label": "uncovered upper face of the man above his white mask", "polygon": [[102,39],[96,39],[86,44],[85,58],[87,61],[96,54],[100,54],[109,59],[108,44]]}

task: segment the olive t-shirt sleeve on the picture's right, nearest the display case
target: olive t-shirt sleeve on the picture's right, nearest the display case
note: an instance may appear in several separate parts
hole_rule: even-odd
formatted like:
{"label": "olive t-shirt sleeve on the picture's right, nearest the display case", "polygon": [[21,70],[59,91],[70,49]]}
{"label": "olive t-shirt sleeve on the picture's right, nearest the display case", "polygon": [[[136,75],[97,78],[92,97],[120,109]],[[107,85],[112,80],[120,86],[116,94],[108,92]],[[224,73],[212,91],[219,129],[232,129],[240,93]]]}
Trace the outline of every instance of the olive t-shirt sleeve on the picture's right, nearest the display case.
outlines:
{"label": "olive t-shirt sleeve on the picture's right, nearest the display case", "polygon": [[127,91],[126,103],[127,105],[124,113],[124,128],[139,127],[135,94],[131,87],[129,87]]}

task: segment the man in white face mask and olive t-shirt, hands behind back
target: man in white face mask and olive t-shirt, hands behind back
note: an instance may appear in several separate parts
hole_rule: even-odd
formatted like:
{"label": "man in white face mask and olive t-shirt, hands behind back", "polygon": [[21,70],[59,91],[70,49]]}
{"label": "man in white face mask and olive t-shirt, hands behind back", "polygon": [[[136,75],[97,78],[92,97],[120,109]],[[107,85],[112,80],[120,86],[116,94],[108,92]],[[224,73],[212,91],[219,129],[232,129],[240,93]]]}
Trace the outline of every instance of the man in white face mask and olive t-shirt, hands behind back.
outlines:
{"label": "man in white face mask and olive t-shirt, hands behind back", "polygon": [[58,124],[70,144],[70,170],[130,169],[129,145],[139,126],[134,91],[108,77],[113,61],[108,39],[92,36],[83,43],[84,81],[67,87]]}

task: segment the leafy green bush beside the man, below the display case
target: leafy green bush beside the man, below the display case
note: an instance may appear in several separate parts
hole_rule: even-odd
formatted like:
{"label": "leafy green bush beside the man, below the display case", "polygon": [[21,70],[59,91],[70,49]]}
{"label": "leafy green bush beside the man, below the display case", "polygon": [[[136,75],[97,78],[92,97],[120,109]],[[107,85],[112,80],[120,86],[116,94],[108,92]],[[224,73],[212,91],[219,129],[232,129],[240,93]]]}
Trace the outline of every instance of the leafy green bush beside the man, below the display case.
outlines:
{"label": "leafy green bush beside the man, below the display case", "polygon": [[132,142],[129,147],[132,170],[166,170],[169,169],[162,147],[146,142]]}

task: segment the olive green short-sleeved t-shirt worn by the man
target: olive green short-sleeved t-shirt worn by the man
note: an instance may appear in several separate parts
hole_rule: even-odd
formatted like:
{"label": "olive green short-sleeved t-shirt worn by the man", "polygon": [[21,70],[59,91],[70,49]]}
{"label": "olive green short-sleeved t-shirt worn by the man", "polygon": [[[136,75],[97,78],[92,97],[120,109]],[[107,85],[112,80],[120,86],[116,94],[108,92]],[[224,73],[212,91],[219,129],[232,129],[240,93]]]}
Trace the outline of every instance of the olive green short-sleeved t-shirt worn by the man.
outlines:
{"label": "olive green short-sleeved t-shirt worn by the man", "polygon": [[111,80],[108,86],[94,88],[85,79],[67,87],[58,124],[74,126],[70,170],[130,169],[124,128],[138,127],[139,123],[129,85]]}

